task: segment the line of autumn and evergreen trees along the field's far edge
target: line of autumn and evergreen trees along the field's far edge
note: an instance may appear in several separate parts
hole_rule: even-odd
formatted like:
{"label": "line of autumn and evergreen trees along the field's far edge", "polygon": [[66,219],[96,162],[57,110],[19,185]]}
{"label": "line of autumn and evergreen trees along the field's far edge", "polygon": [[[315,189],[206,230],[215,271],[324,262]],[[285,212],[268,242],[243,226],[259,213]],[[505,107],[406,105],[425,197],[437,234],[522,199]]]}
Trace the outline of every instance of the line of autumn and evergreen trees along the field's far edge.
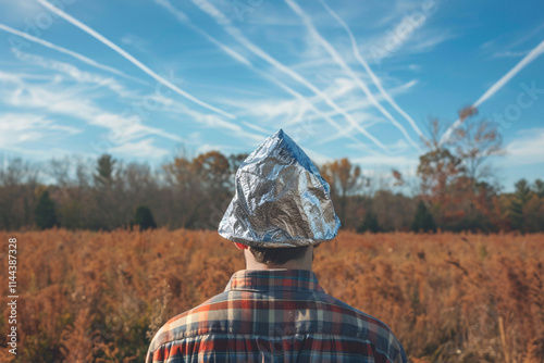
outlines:
{"label": "line of autumn and evergreen trees along the field's far edge", "polygon": [[[357,231],[544,230],[544,183],[520,179],[514,192],[494,180],[492,159],[504,153],[496,125],[460,111],[462,124],[446,140],[433,120],[417,174],[392,170],[378,178],[344,158],[318,165],[331,186],[343,228]],[[0,229],[217,228],[234,195],[247,154],[210,151],[176,157],[160,167],[96,160],[53,159],[0,165]]]}

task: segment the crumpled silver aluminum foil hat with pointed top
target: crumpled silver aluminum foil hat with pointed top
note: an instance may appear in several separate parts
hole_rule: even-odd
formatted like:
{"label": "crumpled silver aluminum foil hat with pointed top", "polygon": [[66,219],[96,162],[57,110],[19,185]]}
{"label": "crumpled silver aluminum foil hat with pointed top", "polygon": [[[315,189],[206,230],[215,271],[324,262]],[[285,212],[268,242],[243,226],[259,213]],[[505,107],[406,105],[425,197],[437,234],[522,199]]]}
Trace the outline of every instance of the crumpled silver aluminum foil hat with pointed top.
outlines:
{"label": "crumpled silver aluminum foil hat with pointed top", "polygon": [[341,222],[329,184],[282,129],[242,163],[235,186],[219,224],[224,238],[273,248],[318,245],[336,237]]}

